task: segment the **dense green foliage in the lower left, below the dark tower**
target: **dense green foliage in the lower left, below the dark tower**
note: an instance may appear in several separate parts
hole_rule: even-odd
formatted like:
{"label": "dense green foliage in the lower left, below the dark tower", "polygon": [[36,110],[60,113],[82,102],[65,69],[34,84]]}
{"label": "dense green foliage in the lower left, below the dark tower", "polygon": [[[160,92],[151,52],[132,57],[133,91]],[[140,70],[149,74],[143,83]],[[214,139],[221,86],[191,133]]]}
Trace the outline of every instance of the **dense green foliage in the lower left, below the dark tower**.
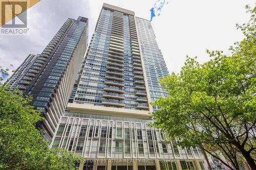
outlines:
{"label": "dense green foliage in the lower left, below the dark tower", "polygon": [[0,169],[75,169],[81,160],[69,151],[49,148],[42,131],[40,111],[27,105],[30,98],[0,86]]}

